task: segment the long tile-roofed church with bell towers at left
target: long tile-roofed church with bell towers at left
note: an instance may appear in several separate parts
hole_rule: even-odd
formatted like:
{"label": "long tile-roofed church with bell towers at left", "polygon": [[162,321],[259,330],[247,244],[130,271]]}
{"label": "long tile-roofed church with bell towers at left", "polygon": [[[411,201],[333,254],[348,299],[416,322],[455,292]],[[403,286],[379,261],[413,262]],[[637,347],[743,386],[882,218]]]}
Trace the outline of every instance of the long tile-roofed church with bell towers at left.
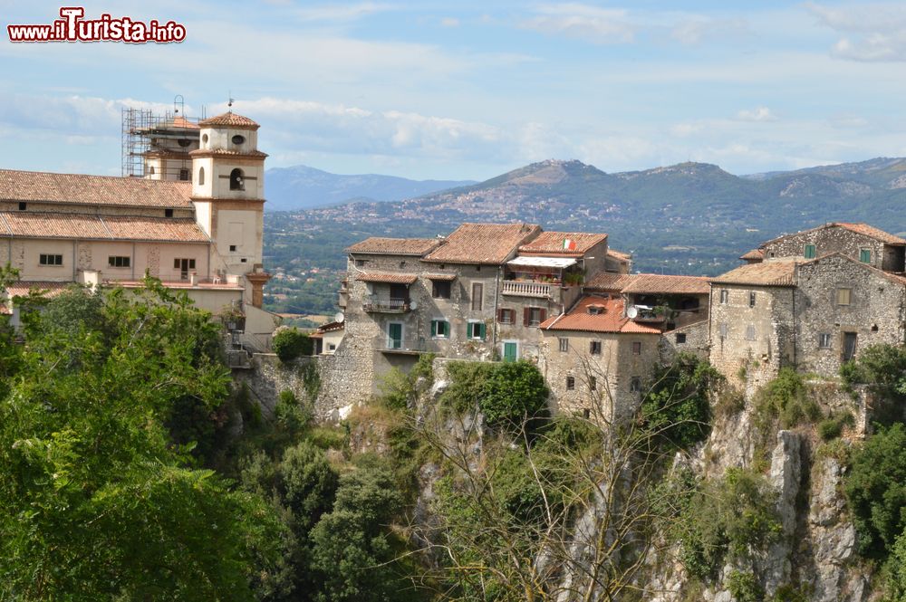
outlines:
{"label": "long tile-roofed church with bell towers at left", "polygon": [[[155,135],[169,132],[176,148],[152,146],[143,178],[0,170],[0,264],[21,278],[5,300],[14,322],[16,293],[68,282],[136,288],[149,273],[208,311],[240,311],[244,342],[267,347],[275,319],[261,308],[258,124],[232,112],[179,119],[159,126]],[[188,174],[178,167],[187,160]]]}

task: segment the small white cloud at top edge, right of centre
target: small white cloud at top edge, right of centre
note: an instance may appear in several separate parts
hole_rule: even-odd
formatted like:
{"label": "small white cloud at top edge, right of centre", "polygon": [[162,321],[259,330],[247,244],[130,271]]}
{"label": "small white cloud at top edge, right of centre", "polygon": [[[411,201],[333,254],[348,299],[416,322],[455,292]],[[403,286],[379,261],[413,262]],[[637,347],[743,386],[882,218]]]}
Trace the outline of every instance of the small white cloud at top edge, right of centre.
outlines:
{"label": "small white cloud at top edge, right of centre", "polygon": [[540,5],[535,16],[524,19],[519,26],[548,35],[564,35],[593,43],[631,43],[635,25],[623,9],[599,8],[579,3]]}

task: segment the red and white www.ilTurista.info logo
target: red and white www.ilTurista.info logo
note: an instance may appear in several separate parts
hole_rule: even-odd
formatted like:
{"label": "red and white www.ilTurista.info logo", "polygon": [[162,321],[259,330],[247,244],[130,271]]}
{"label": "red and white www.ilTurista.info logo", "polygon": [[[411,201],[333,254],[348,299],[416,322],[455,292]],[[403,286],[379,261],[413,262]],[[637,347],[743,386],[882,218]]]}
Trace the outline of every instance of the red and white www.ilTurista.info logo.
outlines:
{"label": "red and white www.ilTurista.info logo", "polygon": [[148,23],[128,16],[113,18],[101,14],[98,19],[83,19],[82,6],[63,6],[61,19],[44,25],[6,25],[10,42],[127,42],[172,43],[186,39],[186,27],[174,21],[165,24],[157,19]]}

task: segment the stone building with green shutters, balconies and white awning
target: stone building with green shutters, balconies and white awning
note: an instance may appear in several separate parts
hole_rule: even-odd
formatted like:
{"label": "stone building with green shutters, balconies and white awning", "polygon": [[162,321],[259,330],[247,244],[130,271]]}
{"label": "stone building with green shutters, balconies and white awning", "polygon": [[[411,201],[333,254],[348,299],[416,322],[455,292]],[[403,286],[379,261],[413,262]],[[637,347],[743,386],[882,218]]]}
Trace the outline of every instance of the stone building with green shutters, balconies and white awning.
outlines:
{"label": "stone building with green shutters, balconies and white awning", "polygon": [[376,393],[381,375],[408,370],[422,353],[536,361],[538,326],[571,306],[584,279],[603,272],[609,257],[606,234],[543,232],[529,224],[463,224],[428,239],[369,238],[346,252],[345,333],[329,364],[347,375],[355,366],[356,383],[338,383],[352,401]]}

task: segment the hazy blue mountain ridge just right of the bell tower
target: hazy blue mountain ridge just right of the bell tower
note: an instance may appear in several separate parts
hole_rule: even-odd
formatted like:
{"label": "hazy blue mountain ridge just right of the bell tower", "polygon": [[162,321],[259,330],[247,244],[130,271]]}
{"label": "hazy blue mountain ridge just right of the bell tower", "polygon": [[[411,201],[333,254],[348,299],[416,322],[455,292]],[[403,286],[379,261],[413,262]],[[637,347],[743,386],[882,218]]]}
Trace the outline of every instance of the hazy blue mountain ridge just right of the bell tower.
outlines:
{"label": "hazy blue mountain ridge just right of the bell tower", "polygon": [[408,180],[404,177],[340,176],[297,165],[265,172],[268,211],[294,211],[345,201],[386,202],[472,184],[470,181]]}

